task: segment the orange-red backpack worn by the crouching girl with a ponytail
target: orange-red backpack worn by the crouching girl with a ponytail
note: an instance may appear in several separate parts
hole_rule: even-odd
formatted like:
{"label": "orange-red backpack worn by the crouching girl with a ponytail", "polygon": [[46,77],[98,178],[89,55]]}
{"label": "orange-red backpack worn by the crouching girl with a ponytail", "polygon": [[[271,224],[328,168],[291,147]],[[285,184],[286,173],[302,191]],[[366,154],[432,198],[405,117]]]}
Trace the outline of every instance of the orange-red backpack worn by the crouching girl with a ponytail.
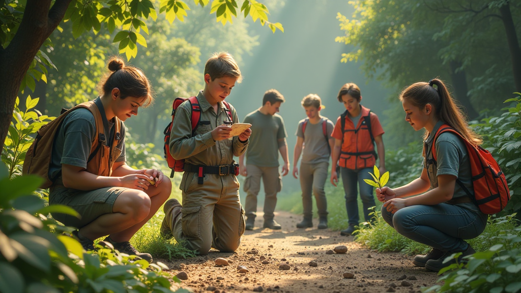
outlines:
{"label": "orange-red backpack worn by the crouching girl with a ponytail", "polygon": [[506,184],[505,174],[501,171],[498,162],[494,160],[489,151],[474,146],[468,142],[463,136],[449,125],[442,125],[436,132],[434,141],[432,142],[432,158],[436,164],[436,139],[441,133],[451,132],[460,137],[467,147],[467,153],[470,161],[470,169],[472,170],[472,183],[474,185],[474,196],[462,184],[459,179],[456,183],[465,191],[467,196],[473,200],[474,204],[484,214],[493,215],[501,212],[508,200],[510,200],[510,191]]}

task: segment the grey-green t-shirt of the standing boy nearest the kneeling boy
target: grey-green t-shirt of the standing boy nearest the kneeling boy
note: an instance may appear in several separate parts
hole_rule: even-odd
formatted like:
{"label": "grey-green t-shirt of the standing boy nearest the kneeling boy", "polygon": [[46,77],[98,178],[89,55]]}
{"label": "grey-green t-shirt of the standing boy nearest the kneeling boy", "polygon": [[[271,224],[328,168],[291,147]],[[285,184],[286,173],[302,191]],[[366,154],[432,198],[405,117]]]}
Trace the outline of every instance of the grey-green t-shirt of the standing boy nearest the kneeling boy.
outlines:
{"label": "grey-green t-shirt of the standing boy nearest the kneeling boy", "polygon": [[244,118],[243,123],[252,125],[250,144],[246,150],[246,164],[259,167],[279,166],[279,139],[288,136],[284,120],[280,115],[264,115],[254,111]]}

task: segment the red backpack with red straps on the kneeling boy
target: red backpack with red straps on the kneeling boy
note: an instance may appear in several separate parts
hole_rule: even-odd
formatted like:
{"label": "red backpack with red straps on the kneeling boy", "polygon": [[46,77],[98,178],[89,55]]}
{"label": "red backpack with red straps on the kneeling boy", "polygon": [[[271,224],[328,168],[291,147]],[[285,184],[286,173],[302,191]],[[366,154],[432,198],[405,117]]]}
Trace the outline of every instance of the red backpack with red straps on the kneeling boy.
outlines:
{"label": "red backpack with red straps on the kneeling boy", "polygon": [[[184,159],[182,160],[176,160],[172,157],[170,154],[170,135],[172,133],[172,126],[173,126],[173,118],[176,116],[176,110],[179,108],[179,106],[184,101],[189,101],[189,103],[192,105],[192,137],[195,134],[195,131],[197,130],[197,127],[201,124],[201,107],[199,106],[199,101],[197,101],[196,96],[191,96],[188,99],[185,99],[184,97],[176,97],[175,100],[173,100],[172,103],[172,121],[168,124],[168,126],[165,128],[165,131],[163,131],[165,135],[165,145],[164,145],[164,151],[165,151],[165,158],[168,163],[168,167],[172,169],[172,173],[170,173],[170,178],[173,177],[173,174],[175,172],[183,172],[184,169]],[[232,115],[231,115],[231,106],[226,101],[222,101],[224,105],[226,106],[226,115],[230,119],[230,121],[233,121]]]}

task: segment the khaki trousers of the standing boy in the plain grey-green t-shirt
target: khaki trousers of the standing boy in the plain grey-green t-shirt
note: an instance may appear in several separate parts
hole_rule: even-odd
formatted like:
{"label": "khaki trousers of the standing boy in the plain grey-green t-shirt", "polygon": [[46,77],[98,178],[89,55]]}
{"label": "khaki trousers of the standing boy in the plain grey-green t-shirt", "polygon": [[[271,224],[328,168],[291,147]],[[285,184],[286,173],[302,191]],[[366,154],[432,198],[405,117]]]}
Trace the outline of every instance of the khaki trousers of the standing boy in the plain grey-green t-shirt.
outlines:
{"label": "khaki trousers of the standing boy in the plain grey-green t-shirt", "polygon": [[264,199],[264,219],[272,219],[277,205],[277,192],[282,189],[282,177],[279,167],[258,167],[246,165],[248,175],[244,179],[244,191],[246,196],[246,216],[255,218],[257,216],[257,195],[261,190],[261,178],[264,183],[266,197]]}

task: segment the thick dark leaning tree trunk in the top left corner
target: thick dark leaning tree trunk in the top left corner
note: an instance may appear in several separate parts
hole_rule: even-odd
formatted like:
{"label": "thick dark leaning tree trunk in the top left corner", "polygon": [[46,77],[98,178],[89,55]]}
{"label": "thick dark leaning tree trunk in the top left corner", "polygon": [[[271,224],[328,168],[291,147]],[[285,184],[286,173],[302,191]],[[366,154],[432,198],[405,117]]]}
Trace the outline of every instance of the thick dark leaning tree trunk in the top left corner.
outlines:
{"label": "thick dark leaning tree trunk in the top left corner", "polygon": [[40,46],[63,19],[71,0],[27,0],[22,21],[6,48],[0,46],[0,143],[5,138],[13,117],[16,96],[31,62]]}

